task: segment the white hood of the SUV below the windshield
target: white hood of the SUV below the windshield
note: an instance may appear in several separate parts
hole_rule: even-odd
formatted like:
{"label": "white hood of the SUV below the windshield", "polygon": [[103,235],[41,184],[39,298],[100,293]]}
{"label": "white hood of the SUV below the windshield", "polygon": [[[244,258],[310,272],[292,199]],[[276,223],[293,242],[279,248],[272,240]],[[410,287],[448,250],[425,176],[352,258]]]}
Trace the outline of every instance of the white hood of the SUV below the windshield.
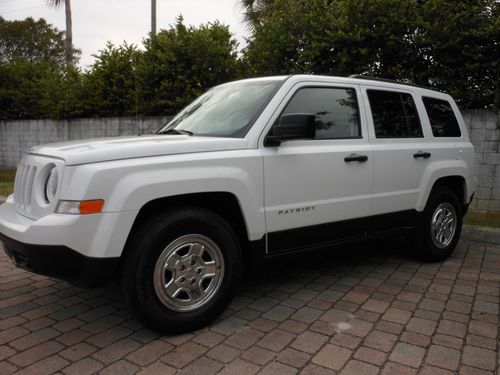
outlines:
{"label": "white hood of the SUV below the windshield", "polygon": [[227,151],[246,148],[242,138],[189,135],[147,135],[51,143],[32,147],[30,154],[52,156],[66,165],[193,152]]}

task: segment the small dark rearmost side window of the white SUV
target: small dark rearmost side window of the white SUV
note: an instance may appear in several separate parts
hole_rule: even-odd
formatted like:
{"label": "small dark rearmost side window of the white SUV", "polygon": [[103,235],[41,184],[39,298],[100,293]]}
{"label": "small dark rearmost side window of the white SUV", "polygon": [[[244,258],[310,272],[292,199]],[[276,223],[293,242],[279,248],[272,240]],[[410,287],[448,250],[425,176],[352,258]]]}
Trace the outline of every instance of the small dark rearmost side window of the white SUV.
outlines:
{"label": "small dark rearmost side window of the white SUV", "polygon": [[460,137],[462,133],[450,103],[446,100],[423,97],[434,137]]}

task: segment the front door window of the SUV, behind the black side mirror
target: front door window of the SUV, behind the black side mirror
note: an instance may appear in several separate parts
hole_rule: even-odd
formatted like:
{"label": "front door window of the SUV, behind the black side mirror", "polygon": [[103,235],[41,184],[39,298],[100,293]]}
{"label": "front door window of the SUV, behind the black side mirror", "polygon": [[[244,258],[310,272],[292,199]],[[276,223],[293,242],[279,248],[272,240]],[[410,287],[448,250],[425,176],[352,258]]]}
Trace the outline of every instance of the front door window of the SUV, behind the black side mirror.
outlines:
{"label": "front door window of the SUV, behind the black side mirror", "polygon": [[304,88],[290,99],[282,114],[308,113],[316,118],[316,139],[361,136],[356,91],[349,88]]}

